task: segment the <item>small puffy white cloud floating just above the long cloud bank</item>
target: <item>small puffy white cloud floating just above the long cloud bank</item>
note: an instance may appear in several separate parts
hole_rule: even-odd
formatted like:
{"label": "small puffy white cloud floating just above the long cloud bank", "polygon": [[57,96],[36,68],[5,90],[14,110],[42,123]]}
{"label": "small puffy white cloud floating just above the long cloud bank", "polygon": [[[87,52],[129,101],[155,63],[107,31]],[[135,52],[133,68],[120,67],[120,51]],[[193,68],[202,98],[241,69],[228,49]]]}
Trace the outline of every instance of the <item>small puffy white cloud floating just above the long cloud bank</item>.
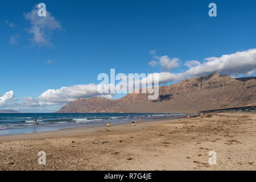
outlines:
{"label": "small puffy white cloud floating just above the long cloud bank", "polygon": [[172,68],[179,66],[179,59],[177,57],[170,58],[168,56],[156,56],[156,51],[150,51],[150,54],[155,60],[150,61],[148,64],[151,67],[160,65],[162,71],[171,71]]}

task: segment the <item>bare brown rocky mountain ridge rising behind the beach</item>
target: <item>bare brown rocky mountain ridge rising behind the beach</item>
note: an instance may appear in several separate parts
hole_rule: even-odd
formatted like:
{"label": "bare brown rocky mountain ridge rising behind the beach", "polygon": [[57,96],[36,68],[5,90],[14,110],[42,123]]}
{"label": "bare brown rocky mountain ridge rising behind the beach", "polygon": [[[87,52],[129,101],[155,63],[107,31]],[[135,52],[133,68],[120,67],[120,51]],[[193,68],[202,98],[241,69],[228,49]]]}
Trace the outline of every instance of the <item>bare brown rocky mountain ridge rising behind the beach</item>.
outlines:
{"label": "bare brown rocky mountain ridge rising behind the beach", "polygon": [[186,113],[256,105],[256,80],[214,73],[159,87],[157,100],[129,93],[118,100],[92,97],[69,102],[57,113]]}

